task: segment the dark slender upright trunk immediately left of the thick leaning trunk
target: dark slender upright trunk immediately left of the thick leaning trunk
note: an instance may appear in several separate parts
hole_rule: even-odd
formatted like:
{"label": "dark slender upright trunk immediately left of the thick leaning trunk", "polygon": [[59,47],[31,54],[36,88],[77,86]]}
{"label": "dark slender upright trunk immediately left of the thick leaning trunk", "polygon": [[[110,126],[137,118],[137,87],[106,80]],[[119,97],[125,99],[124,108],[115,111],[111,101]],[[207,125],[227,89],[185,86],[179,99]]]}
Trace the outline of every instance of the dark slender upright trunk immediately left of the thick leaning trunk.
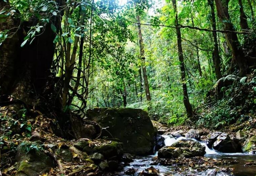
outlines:
{"label": "dark slender upright trunk immediately left of the thick leaning trunk", "polygon": [[[208,3],[210,5],[210,9],[211,9],[211,25],[213,27],[213,30],[216,30],[214,1],[213,0],[208,0]],[[220,71],[219,46],[218,46],[218,39],[217,39],[217,33],[216,32],[213,32],[213,40],[214,40],[214,51],[213,51],[214,70],[215,70],[216,78],[219,80],[222,76],[221,76],[221,71]]]}

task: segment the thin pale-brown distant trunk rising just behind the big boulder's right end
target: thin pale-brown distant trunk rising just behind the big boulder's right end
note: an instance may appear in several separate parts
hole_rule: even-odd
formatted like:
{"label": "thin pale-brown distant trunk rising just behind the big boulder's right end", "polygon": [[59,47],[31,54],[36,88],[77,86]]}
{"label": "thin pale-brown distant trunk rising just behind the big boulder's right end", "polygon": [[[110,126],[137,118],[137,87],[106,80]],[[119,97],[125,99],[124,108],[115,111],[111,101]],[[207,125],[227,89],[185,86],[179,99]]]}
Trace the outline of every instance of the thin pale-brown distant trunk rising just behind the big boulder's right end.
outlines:
{"label": "thin pale-brown distant trunk rising just behind the big boulder's right end", "polygon": [[144,79],[144,87],[145,87],[147,101],[151,101],[151,96],[150,96],[150,92],[149,92],[147,69],[146,69],[146,65],[145,65],[144,43],[143,43],[143,40],[142,40],[141,27],[140,27],[140,16],[139,15],[137,15],[137,22],[138,22],[140,57],[141,57],[142,73],[143,73],[143,79]]}

